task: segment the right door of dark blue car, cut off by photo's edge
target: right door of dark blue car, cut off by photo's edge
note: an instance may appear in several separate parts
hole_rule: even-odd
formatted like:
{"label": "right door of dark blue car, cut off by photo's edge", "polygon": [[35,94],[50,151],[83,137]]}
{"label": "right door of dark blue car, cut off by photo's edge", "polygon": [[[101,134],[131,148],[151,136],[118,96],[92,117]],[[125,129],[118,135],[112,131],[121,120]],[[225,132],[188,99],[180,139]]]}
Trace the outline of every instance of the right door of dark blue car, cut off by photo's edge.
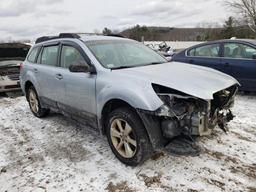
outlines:
{"label": "right door of dark blue car, cut off by photo's edge", "polygon": [[256,48],[241,42],[223,42],[221,72],[238,80],[244,90],[256,88]]}

